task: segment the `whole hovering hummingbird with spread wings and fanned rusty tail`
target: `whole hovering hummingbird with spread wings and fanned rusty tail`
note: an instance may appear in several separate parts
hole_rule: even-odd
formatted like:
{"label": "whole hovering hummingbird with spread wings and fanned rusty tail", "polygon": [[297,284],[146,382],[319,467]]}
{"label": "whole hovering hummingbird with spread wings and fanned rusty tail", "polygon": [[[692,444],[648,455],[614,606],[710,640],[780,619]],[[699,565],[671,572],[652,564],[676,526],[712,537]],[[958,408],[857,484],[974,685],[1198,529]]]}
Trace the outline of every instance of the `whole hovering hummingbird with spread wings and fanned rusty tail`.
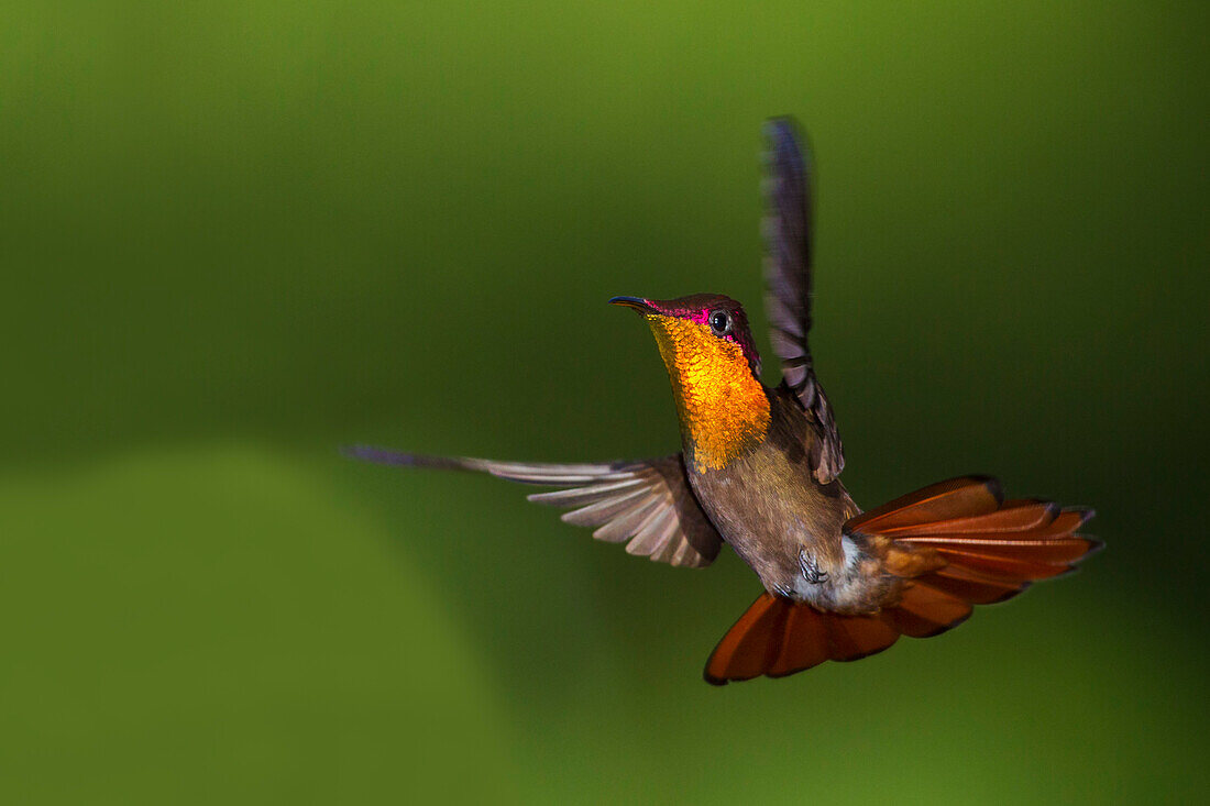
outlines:
{"label": "whole hovering hummingbird with spread wings and fanned rusty tail", "polygon": [[964,476],[863,512],[840,480],[845,454],[816,376],[811,329],[811,171],[795,126],[767,123],[766,312],[783,380],[761,382],[744,309],[721,294],[615,297],[651,328],[668,369],[681,453],[639,461],[558,465],[445,459],[353,447],[407,467],[483,471],[559,488],[530,501],[630,554],[709,565],[730,545],[765,591],[710,655],[705,680],[779,678],[824,661],[855,661],[900,635],[962,623],[972,605],[1003,601],[1059,576],[1100,543],[1077,534],[1093,516],[1006,499],[993,478]]}

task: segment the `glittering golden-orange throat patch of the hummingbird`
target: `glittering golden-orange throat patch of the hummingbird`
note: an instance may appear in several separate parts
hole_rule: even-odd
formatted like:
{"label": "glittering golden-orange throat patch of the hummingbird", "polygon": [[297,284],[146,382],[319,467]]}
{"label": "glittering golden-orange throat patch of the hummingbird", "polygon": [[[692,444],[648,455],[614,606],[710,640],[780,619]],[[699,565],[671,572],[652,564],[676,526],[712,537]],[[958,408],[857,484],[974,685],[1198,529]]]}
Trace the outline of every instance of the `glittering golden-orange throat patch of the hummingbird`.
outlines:
{"label": "glittering golden-orange throat patch of the hummingbird", "polygon": [[649,313],[676,399],[686,460],[721,470],[768,432],[768,398],[738,344],[704,324]]}

